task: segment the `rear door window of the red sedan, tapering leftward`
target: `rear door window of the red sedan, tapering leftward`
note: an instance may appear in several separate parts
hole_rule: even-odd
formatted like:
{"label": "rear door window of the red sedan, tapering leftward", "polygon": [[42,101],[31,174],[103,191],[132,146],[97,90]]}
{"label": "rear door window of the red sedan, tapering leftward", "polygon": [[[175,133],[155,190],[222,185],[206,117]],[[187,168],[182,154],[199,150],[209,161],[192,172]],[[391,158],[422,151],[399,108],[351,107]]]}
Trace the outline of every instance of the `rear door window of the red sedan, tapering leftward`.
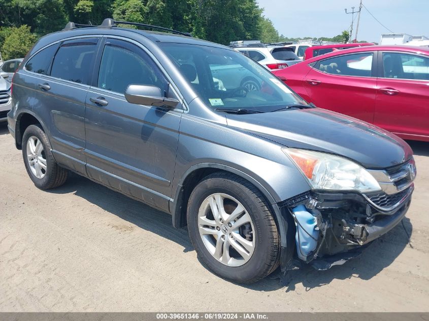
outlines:
{"label": "rear door window of the red sedan, tapering leftward", "polygon": [[373,52],[339,55],[321,60],[316,68],[333,75],[371,77],[373,55]]}

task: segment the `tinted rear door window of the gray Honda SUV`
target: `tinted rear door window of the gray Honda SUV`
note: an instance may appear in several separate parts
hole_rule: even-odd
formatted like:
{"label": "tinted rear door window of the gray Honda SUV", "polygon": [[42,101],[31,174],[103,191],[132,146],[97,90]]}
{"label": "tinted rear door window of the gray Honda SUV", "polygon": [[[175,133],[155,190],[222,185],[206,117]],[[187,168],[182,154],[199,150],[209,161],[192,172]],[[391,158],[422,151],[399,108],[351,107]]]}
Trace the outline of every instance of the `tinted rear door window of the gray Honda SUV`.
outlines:
{"label": "tinted rear door window of the gray Honda SUV", "polygon": [[89,85],[97,42],[97,38],[64,42],[55,55],[51,76]]}

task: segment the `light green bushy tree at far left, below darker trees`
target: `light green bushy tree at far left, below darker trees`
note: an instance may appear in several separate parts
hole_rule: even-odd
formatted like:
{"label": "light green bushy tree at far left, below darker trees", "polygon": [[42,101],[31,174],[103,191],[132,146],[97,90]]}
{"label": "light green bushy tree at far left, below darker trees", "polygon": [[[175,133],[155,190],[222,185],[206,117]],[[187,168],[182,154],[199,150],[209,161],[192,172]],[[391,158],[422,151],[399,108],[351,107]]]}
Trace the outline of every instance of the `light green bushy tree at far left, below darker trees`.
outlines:
{"label": "light green bushy tree at far left, below darker trees", "polygon": [[29,26],[11,27],[10,34],[6,37],[2,46],[3,59],[24,57],[36,40],[37,37],[30,32]]}

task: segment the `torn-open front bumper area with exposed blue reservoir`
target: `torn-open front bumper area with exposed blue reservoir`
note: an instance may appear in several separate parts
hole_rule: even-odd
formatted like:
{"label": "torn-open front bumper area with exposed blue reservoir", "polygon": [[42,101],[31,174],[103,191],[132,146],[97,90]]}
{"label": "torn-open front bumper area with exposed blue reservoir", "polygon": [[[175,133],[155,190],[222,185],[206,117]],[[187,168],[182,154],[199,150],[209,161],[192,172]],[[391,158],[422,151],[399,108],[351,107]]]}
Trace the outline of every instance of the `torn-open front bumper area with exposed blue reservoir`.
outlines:
{"label": "torn-open front bumper area with exposed blue reservoir", "polygon": [[282,254],[282,270],[304,262],[326,270],[358,256],[366,244],[401,222],[413,190],[414,185],[394,195],[309,191],[280,203],[295,224],[294,256],[298,258]]}

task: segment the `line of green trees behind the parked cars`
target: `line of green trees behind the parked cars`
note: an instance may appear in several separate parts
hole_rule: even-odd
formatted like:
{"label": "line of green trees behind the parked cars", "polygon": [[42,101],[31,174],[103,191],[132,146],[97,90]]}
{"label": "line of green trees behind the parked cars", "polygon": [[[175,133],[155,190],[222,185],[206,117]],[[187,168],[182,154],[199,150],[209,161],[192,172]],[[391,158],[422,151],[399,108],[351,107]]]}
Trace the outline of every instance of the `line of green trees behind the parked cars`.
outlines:
{"label": "line of green trees behind the parked cars", "polygon": [[224,45],[291,41],[263,16],[257,0],[0,0],[0,52],[4,60],[23,57],[37,39],[68,21],[98,25],[107,17],[191,32]]}

